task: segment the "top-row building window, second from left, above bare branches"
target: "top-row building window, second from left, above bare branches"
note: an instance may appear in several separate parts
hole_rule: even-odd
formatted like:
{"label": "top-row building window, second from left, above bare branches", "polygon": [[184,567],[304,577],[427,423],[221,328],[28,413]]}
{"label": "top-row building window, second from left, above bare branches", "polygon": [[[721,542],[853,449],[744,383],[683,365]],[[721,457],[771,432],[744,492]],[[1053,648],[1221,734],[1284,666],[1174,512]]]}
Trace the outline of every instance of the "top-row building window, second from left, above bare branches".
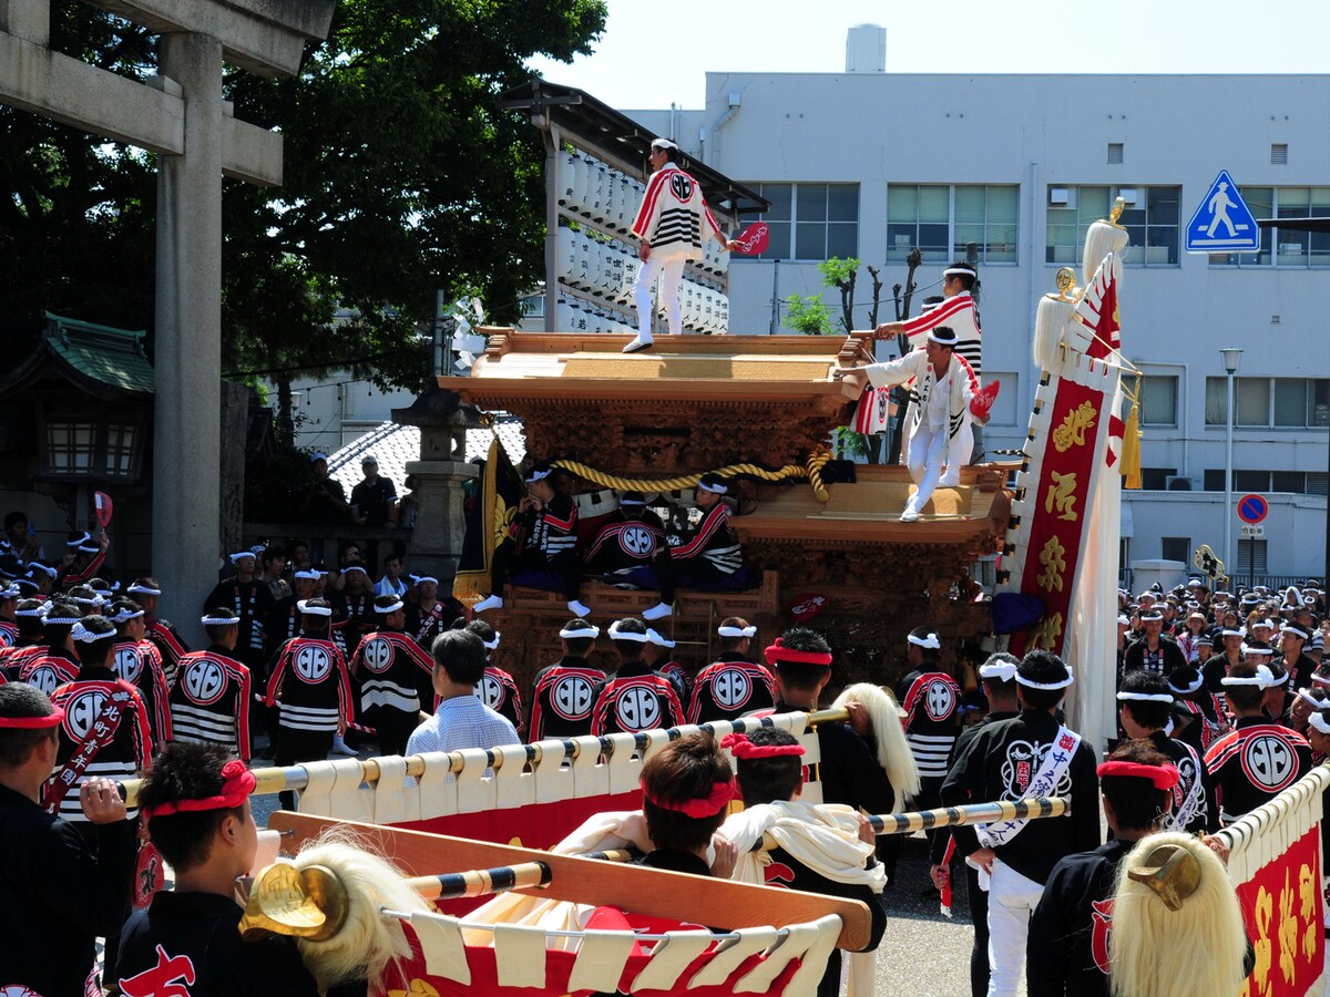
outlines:
{"label": "top-row building window, second from left, above bare branches", "polygon": [[963,259],[975,246],[980,263],[1016,262],[1020,187],[982,183],[887,186],[887,262],[918,249],[926,262]]}

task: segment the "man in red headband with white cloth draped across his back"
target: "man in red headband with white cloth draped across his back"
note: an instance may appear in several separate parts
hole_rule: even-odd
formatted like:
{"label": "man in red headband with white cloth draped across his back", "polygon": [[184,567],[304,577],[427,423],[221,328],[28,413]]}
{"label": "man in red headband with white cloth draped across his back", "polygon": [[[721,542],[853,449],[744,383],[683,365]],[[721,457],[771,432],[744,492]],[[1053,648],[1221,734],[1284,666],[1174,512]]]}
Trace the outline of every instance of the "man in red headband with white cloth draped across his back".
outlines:
{"label": "man in red headband with white cloth draped across his back", "polygon": [[[721,747],[734,755],[743,811],[721,826],[721,837],[733,841],[739,861],[734,879],[758,885],[798,889],[806,893],[859,900],[868,907],[871,929],[862,952],[871,953],[882,941],[887,912],[882,905],[884,868],[874,857],[876,835],[868,819],[845,806],[815,806],[798,799],[803,790],[803,746],[778,727],[758,727],[751,734],[726,734]],[[762,837],[771,833],[778,847],[767,852]],[[874,956],[867,956],[872,989]],[[859,966],[857,972],[862,972]],[[862,982],[861,982],[862,986]],[[841,993],[841,950],[827,960],[818,997]]]}

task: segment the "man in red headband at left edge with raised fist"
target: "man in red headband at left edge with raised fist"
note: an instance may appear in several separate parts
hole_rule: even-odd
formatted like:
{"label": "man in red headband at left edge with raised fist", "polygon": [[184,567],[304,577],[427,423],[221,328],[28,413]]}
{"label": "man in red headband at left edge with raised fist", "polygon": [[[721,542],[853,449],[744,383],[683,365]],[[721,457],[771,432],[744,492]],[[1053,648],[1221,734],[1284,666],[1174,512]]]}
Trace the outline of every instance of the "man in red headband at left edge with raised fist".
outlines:
{"label": "man in red headband at left edge with raised fist", "polygon": [[[0,990],[82,993],[94,970],[96,940],[129,915],[134,839],[112,835],[90,848],[85,835],[41,807],[56,764],[64,711],[24,682],[0,686]],[[122,823],[125,804],[110,779],[78,787],[84,816]]]}

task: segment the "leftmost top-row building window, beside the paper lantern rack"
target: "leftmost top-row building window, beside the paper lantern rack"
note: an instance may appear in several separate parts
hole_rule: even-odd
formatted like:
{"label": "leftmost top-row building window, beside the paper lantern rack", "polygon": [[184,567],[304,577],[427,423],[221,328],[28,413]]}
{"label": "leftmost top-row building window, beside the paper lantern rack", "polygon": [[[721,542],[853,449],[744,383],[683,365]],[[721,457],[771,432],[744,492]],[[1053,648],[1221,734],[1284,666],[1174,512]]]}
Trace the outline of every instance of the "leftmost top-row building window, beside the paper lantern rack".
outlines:
{"label": "leftmost top-row building window, beside the paper lantern rack", "polygon": [[761,259],[849,259],[859,254],[858,183],[754,183],[771,209]]}

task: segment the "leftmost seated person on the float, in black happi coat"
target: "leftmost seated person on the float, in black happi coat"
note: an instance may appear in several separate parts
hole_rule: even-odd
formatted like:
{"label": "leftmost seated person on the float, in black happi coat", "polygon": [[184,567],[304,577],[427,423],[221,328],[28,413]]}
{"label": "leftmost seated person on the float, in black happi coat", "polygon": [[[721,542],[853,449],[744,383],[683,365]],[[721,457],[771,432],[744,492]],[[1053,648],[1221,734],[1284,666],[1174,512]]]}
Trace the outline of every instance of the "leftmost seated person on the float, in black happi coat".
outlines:
{"label": "leftmost seated person on the float, in black happi coat", "polygon": [[[517,502],[509,536],[495,548],[491,593],[472,610],[503,609],[503,584],[563,590],[573,615],[591,615],[577,596],[583,561],[577,554],[577,504],[555,489],[557,468],[537,465],[527,472],[527,495]],[[511,572],[511,577],[509,577]]]}

